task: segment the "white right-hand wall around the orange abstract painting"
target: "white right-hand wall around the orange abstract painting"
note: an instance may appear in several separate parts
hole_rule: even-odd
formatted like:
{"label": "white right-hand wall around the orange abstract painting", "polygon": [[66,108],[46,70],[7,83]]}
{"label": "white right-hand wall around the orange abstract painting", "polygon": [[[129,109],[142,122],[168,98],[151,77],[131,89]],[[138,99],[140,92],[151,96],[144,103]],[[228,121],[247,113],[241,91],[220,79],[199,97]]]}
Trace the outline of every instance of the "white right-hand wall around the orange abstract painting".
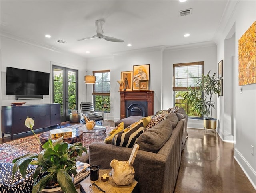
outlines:
{"label": "white right-hand wall around the orange abstract painting", "polygon": [[[226,58],[225,39],[235,26],[235,66],[234,66],[234,136],[235,151],[234,157],[242,167],[244,173],[251,181],[256,189],[256,84],[242,86],[243,92],[240,93],[238,84],[238,40],[246,32],[246,30],[256,20],[256,2],[255,1],[239,1],[229,18],[228,22],[220,30],[217,43],[217,61]],[[225,65],[225,62],[224,62]],[[227,73],[224,74],[225,76]],[[224,88],[225,89],[225,88]],[[226,94],[226,93],[224,93]],[[223,100],[220,99],[220,100]],[[228,100],[225,99],[225,100]],[[224,104],[224,101],[219,101]],[[225,117],[225,112],[221,109],[218,112],[218,118]],[[226,120],[225,120],[226,121]],[[223,127],[219,128],[220,133],[224,133]],[[254,152],[251,154],[251,145],[254,146]]]}

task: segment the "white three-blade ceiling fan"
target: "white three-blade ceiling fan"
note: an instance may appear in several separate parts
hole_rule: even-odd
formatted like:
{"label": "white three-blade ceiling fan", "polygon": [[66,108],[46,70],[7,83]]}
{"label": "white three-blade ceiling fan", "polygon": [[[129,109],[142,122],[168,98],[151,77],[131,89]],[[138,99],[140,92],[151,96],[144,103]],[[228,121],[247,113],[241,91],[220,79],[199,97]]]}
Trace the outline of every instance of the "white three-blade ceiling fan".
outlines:
{"label": "white three-blade ceiling fan", "polygon": [[103,26],[104,23],[105,23],[104,20],[96,20],[95,21],[96,35],[94,35],[92,37],[85,37],[85,38],[82,38],[82,39],[77,39],[77,41],[99,38],[99,39],[105,39],[107,41],[113,41],[113,42],[124,42],[124,40],[122,40],[122,39],[117,39],[115,37],[109,37],[109,36],[103,35],[102,26]]}

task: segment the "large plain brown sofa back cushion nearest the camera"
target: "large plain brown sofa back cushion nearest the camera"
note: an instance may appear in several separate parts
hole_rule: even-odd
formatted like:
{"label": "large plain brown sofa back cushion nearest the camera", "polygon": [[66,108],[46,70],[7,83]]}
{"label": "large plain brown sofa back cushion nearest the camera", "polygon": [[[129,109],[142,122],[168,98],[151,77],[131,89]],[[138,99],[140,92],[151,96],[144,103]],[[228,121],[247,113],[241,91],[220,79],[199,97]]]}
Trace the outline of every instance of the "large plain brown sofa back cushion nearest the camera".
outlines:
{"label": "large plain brown sofa back cushion nearest the camera", "polygon": [[159,124],[143,132],[137,141],[140,150],[157,153],[167,142],[172,134],[169,119],[162,120]]}

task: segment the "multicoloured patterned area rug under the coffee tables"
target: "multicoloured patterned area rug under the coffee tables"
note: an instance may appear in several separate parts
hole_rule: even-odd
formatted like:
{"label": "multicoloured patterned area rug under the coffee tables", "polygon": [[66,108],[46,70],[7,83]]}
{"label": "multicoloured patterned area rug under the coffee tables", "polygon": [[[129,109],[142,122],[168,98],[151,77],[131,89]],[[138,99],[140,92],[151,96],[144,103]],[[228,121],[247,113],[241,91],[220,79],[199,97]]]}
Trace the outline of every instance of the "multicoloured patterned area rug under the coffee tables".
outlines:
{"label": "multicoloured patterned area rug under the coffee tables", "polygon": [[[68,126],[68,128],[78,128],[79,126],[85,126],[85,124],[74,124]],[[106,134],[112,129],[112,127],[106,126]],[[40,134],[37,134],[38,137],[39,135]],[[84,144],[84,146],[87,147],[91,142],[89,141],[87,143],[88,144]],[[12,163],[14,158],[24,154],[38,153],[40,152],[39,147],[39,142],[34,135],[0,144],[0,163]]]}

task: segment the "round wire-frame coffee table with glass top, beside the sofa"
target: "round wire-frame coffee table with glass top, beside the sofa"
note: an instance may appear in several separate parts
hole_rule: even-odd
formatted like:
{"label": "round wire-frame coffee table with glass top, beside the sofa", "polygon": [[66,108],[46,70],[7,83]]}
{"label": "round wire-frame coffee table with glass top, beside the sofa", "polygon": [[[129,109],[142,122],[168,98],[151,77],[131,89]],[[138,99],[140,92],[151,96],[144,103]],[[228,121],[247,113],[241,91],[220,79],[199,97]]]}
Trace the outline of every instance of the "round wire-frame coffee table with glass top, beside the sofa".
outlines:
{"label": "round wire-frame coffee table with glass top, beside the sofa", "polygon": [[88,148],[92,142],[103,142],[106,137],[106,127],[95,125],[92,130],[86,129],[86,126],[80,126],[77,129],[83,132],[83,146]]}

